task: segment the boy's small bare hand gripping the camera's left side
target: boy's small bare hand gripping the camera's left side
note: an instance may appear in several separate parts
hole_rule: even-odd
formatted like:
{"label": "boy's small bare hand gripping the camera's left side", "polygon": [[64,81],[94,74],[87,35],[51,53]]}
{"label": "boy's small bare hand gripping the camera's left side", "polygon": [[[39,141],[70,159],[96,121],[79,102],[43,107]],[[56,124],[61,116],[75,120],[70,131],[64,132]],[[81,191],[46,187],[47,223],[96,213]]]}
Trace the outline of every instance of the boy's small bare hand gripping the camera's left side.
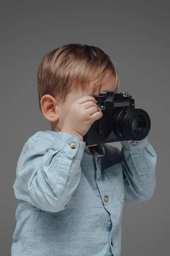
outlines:
{"label": "boy's small bare hand gripping the camera's left side", "polygon": [[96,105],[92,96],[82,96],[73,102],[65,117],[61,132],[77,136],[83,141],[83,136],[91,125],[103,115],[102,110]]}

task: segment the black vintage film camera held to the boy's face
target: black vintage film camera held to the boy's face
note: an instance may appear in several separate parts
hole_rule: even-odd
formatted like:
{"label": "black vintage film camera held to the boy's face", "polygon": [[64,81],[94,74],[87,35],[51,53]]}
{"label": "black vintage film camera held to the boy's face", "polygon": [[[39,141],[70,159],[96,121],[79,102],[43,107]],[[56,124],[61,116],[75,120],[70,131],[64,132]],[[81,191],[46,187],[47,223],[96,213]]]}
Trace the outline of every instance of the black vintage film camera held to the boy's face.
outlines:
{"label": "black vintage film camera held to the boy's face", "polygon": [[[93,94],[90,96],[93,97]],[[102,117],[91,125],[84,135],[86,145],[122,140],[143,140],[150,131],[150,117],[141,108],[135,108],[134,99],[127,92],[100,92],[94,97],[102,110]]]}

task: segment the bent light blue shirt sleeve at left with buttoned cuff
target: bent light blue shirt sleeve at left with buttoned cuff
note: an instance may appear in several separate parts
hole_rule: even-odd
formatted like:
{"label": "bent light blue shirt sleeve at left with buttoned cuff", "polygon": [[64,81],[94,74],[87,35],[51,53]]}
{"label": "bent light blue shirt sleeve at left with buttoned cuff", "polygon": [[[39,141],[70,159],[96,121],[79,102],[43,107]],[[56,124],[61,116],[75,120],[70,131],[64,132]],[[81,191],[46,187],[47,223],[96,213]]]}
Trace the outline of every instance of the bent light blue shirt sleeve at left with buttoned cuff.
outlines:
{"label": "bent light blue shirt sleeve at left with buttoned cuff", "polygon": [[[76,148],[70,147],[73,142]],[[17,163],[16,198],[45,211],[65,209],[79,184],[84,149],[85,142],[64,132],[57,132],[51,144],[26,144]]]}

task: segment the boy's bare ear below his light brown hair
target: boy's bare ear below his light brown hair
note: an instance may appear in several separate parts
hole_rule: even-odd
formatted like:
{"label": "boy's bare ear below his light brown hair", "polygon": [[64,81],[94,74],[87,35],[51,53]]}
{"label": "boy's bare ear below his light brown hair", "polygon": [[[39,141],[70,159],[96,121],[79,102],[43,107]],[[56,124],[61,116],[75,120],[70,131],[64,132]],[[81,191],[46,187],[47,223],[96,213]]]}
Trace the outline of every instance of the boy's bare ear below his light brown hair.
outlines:
{"label": "boy's bare ear below his light brown hair", "polygon": [[43,116],[50,122],[57,122],[59,119],[57,100],[53,96],[45,94],[42,96],[40,104]]}

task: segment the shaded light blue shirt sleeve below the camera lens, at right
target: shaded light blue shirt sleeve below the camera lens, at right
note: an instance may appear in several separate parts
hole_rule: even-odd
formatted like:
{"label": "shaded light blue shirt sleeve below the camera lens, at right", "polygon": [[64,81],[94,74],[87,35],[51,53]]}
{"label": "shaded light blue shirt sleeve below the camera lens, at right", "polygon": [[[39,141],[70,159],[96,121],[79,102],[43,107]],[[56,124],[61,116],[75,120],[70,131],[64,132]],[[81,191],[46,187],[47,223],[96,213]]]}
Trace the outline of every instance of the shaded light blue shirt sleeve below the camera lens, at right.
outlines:
{"label": "shaded light blue shirt sleeve below the camera lens, at right", "polygon": [[119,151],[124,177],[125,201],[146,201],[156,188],[156,152],[148,137],[131,143],[121,141]]}

